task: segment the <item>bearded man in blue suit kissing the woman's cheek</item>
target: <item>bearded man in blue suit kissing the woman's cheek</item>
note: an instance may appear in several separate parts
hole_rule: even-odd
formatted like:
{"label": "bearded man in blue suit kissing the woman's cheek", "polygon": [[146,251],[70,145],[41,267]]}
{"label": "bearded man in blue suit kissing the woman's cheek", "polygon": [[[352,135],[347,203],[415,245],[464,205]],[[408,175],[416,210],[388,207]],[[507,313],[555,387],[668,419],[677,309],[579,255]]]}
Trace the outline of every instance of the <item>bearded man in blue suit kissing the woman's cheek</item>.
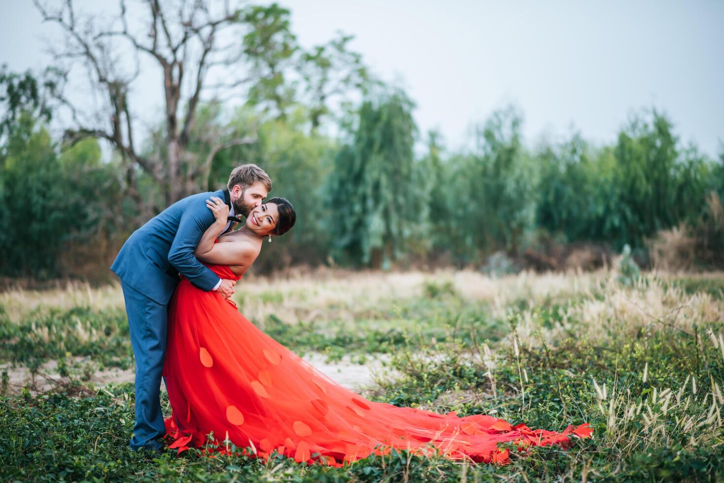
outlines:
{"label": "bearded man in blue suit kissing the woman's cheek", "polygon": [[[159,391],[166,356],[167,310],[182,274],[201,290],[234,294],[234,280],[219,279],[193,255],[214,214],[206,199],[226,200],[230,216],[259,206],[271,190],[271,180],[256,164],[243,164],[229,177],[227,189],[198,193],[169,206],[133,232],[119,251],[111,270],[121,278],[135,356],[136,422],[130,440],[133,450],[161,452],[166,434]],[[227,230],[230,230],[227,224]]]}

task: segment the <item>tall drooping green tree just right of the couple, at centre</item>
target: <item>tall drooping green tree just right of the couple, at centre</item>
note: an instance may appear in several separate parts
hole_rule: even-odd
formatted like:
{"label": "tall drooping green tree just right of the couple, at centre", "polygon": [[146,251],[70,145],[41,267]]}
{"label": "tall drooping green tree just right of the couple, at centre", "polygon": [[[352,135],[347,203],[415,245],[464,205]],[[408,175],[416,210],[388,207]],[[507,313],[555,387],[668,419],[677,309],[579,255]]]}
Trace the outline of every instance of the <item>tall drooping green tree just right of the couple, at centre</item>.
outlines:
{"label": "tall drooping green tree just right of the couple, at centre", "polygon": [[416,235],[422,203],[413,177],[412,108],[402,91],[363,102],[350,142],[334,159],[332,232],[355,264],[387,266]]}

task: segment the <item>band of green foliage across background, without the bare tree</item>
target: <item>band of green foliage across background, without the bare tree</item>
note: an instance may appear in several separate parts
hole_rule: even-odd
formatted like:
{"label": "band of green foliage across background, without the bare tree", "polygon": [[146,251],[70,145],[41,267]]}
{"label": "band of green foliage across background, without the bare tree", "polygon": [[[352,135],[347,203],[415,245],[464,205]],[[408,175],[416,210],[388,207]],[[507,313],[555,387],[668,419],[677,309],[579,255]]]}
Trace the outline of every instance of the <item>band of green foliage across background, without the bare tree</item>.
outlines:
{"label": "band of green foliage across background, without the bare tree", "polygon": [[[426,154],[416,156],[412,109],[404,93],[380,93],[358,106],[338,138],[311,131],[302,106],[283,121],[249,109],[232,117],[256,123],[258,140],[215,156],[207,187],[256,162],[274,180],[273,194],[298,210],[290,235],[265,247],[261,271],[481,267],[501,253],[513,263],[563,268],[555,256],[568,246],[618,252],[626,244],[647,263],[657,233],[673,227],[694,240],[691,250],[705,236],[697,261],[721,266],[723,159],[682,147],[659,112],[631,119],[611,146],[575,134],[526,148],[521,114],[502,109],[476,126],[472,148],[446,151],[429,133]],[[102,161],[97,140],[68,146],[28,113],[4,139],[0,167],[7,277],[102,279],[119,244],[153,214],[123,193],[126,174],[118,159]],[[138,175],[143,205],[158,203],[158,188]]]}

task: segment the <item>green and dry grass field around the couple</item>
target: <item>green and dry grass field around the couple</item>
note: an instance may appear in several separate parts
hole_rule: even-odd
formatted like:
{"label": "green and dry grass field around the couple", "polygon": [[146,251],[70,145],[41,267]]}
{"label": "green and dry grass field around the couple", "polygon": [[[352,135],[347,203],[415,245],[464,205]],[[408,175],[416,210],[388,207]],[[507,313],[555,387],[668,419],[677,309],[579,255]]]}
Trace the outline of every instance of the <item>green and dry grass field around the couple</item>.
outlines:
{"label": "green and dry grass field around the couple", "polygon": [[[94,377],[133,365],[120,290],[75,285],[0,294],[0,479],[724,479],[724,274],[320,272],[248,277],[235,299],[298,353],[384,355],[374,400],[545,429],[589,422],[594,437],[510,448],[508,466],[405,452],[341,469],[195,450],[151,460],[127,449],[132,385]],[[11,371],[30,382],[12,384]]]}

